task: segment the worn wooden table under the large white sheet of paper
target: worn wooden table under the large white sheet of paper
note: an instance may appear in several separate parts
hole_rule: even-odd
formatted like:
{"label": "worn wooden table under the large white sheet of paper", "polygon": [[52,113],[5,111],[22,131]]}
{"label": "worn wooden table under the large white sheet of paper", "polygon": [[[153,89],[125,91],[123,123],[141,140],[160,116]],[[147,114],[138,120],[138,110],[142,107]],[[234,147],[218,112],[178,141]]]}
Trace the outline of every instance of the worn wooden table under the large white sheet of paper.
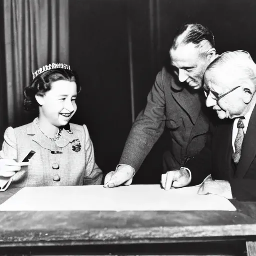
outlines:
{"label": "worn wooden table under the large white sheet of paper", "polygon": [[0,255],[254,256],[256,203],[231,201],[238,211],[2,211]]}

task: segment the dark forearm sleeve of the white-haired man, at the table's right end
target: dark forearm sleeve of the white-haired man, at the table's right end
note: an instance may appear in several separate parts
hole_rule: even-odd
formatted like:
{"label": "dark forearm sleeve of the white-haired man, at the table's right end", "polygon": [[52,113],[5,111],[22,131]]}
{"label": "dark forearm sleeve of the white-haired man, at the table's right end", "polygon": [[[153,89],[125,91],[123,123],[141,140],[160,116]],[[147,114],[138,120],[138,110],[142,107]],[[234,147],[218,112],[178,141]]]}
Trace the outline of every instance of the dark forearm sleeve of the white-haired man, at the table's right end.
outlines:
{"label": "dark forearm sleeve of the white-haired man, at the table's right end", "polygon": [[256,180],[238,179],[229,180],[233,198],[238,201],[256,201]]}

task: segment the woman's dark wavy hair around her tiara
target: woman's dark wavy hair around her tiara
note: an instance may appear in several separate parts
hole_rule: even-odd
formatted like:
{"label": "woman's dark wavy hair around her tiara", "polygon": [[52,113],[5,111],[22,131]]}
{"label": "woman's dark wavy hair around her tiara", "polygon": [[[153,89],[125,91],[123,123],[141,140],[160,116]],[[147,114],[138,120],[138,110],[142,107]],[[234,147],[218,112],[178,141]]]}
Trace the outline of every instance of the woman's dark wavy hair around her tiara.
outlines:
{"label": "woman's dark wavy hair around her tiara", "polygon": [[70,81],[75,82],[77,85],[77,92],[81,90],[79,79],[74,71],[56,68],[47,70],[36,76],[31,84],[24,89],[24,109],[26,111],[35,110],[38,108],[38,102],[35,95],[44,95],[45,92],[51,89],[51,83],[56,81]]}

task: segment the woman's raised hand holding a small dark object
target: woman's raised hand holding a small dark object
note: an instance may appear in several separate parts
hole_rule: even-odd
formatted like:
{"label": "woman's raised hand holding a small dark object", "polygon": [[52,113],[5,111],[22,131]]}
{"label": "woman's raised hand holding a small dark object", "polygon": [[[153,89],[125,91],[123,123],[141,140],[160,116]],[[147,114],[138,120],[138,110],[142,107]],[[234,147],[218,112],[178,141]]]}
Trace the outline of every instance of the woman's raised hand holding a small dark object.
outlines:
{"label": "woman's raised hand holding a small dark object", "polygon": [[0,159],[0,176],[12,177],[17,171],[21,170],[21,165],[13,159]]}

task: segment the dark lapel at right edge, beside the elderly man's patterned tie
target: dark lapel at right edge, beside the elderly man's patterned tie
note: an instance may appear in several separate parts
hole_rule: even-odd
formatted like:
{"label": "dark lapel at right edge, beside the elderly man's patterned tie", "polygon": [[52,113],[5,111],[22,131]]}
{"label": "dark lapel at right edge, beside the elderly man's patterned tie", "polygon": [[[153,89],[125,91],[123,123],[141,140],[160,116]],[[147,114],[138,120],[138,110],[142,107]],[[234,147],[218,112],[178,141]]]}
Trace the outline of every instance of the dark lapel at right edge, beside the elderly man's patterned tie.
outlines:
{"label": "dark lapel at right edge, beside the elderly man's patterned tie", "polygon": [[256,140],[255,138],[256,132],[256,107],[254,107],[250,121],[248,124],[247,132],[244,136],[243,144],[242,144],[242,153],[241,159],[237,165],[236,176],[238,178],[243,178],[248,171],[251,162],[256,156]]}

